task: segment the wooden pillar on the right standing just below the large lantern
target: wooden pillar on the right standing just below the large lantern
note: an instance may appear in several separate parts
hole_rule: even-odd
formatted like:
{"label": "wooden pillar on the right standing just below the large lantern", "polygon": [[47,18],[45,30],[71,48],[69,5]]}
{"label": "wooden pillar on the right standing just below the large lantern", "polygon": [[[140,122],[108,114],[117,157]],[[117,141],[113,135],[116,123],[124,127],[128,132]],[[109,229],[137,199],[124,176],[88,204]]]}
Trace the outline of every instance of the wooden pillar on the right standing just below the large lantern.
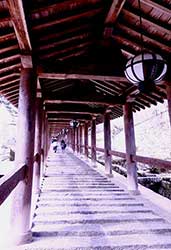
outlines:
{"label": "wooden pillar on the right standing just below the large lantern", "polygon": [[137,181],[137,164],[134,161],[134,156],[136,154],[136,146],[135,146],[132,104],[126,103],[124,105],[123,111],[124,111],[128,190],[137,194],[138,193],[138,181]]}

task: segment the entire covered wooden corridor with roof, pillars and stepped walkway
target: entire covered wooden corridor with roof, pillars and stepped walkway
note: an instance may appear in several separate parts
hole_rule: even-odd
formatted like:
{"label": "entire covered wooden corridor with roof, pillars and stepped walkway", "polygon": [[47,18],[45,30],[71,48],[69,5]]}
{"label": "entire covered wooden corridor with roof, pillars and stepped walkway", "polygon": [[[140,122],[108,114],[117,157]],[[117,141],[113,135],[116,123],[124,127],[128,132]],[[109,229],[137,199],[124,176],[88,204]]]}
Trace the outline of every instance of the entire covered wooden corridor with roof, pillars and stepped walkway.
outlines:
{"label": "entire covered wooden corridor with roof, pillars and stepped walkway", "polygon": [[[15,168],[0,179],[0,205],[13,196],[6,240],[22,245],[35,238],[26,250],[63,249],[65,239],[77,250],[171,249],[167,219],[144,205],[137,178],[137,162],[168,170],[171,161],[136,155],[133,120],[134,112],[167,100],[171,124],[170,1],[1,0],[0,14],[0,93],[18,109]],[[118,152],[111,148],[110,120],[122,116],[126,150]],[[100,123],[104,148],[96,145]],[[71,153],[48,161],[52,137],[65,136],[73,154],[91,158],[91,168]],[[97,152],[104,155],[105,177],[92,169]],[[126,188],[113,177],[113,155],[126,159]],[[32,231],[32,199],[40,193]],[[48,216],[42,215],[46,204],[52,205]],[[48,236],[55,245],[43,243]],[[43,246],[36,246],[39,239]]]}

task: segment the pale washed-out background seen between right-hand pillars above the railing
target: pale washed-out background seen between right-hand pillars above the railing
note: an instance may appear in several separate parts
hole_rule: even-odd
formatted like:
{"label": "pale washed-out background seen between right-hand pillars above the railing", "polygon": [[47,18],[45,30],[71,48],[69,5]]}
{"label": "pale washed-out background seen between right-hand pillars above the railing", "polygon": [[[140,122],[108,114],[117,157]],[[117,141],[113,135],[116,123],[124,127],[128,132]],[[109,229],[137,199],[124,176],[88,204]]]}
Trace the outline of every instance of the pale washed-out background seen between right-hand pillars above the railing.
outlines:
{"label": "pale washed-out background seen between right-hand pillars above the railing", "polygon": [[[171,160],[171,128],[167,101],[134,113],[134,129],[137,155]],[[112,149],[125,152],[123,117],[111,121],[111,134]],[[96,137],[97,146],[103,147],[103,124],[97,126]]]}

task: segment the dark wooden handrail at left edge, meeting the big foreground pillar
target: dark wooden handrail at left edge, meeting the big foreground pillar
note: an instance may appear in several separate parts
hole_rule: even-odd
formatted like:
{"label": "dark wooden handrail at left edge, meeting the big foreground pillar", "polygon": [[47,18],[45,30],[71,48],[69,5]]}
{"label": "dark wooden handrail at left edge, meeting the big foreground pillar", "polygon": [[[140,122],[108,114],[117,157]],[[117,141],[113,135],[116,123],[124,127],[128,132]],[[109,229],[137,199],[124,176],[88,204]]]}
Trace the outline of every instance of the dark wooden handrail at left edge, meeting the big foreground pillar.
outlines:
{"label": "dark wooden handrail at left edge, meeting the big foreground pillar", "polygon": [[17,169],[13,169],[0,179],[0,205],[14,190],[19,181],[25,178],[26,167],[26,165],[22,165]]}

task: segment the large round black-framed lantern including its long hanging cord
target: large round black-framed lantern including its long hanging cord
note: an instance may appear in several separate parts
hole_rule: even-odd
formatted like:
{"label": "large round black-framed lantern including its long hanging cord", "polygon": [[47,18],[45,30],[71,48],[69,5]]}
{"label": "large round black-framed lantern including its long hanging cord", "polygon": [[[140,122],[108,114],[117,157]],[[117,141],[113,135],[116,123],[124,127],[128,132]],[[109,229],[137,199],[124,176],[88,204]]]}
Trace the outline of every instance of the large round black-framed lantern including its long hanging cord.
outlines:
{"label": "large round black-framed lantern including its long hanging cord", "polygon": [[138,6],[140,13],[141,53],[128,60],[124,73],[128,81],[138,86],[140,91],[148,92],[153,90],[155,85],[159,84],[164,78],[167,72],[167,64],[161,55],[144,50],[140,0],[138,0]]}

